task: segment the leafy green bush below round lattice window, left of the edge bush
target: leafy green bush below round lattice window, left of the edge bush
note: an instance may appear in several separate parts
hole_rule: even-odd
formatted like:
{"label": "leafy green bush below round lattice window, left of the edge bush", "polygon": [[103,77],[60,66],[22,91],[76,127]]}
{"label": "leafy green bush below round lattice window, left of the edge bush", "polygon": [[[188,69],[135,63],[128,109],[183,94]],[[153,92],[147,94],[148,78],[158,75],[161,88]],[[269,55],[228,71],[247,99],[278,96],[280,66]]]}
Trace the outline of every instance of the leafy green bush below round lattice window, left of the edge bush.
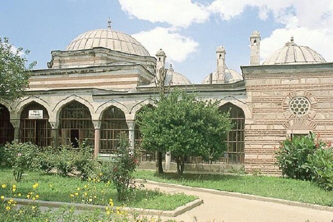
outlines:
{"label": "leafy green bush below round lattice window, left of the edge bush", "polygon": [[282,175],[294,179],[311,180],[311,171],[306,166],[308,156],[312,155],[322,142],[315,142],[315,134],[294,137],[281,142],[276,159]]}

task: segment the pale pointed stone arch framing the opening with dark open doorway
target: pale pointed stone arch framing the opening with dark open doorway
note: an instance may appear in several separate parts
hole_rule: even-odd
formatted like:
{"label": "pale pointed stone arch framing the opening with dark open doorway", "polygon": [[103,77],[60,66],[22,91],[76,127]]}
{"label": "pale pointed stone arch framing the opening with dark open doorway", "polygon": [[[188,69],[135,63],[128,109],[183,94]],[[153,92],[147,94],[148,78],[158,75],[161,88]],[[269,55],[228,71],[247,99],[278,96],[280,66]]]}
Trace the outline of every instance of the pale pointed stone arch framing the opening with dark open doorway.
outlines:
{"label": "pale pointed stone arch framing the opening with dark open doorway", "polygon": [[53,116],[52,121],[56,121],[55,127],[57,128],[59,126],[59,116],[60,112],[63,109],[64,106],[69,104],[72,101],[77,101],[83,105],[85,105],[89,111],[92,119],[94,118],[93,116],[95,115],[94,107],[91,105],[91,103],[88,100],[83,99],[82,97],[79,97],[77,95],[71,95],[66,97],[65,99],[59,101],[57,105],[53,108],[53,112],[56,113],[55,116]]}

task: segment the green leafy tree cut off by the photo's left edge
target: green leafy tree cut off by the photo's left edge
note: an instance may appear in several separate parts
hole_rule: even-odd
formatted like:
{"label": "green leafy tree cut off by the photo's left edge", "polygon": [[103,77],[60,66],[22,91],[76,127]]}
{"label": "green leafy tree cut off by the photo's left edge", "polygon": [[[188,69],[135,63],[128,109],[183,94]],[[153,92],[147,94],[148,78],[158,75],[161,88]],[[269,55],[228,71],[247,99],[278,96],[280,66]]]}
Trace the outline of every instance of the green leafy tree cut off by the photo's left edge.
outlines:
{"label": "green leafy tree cut off by the photo's left edge", "polygon": [[8,38],[0,38],[0,99],[15,100],[28,87],[29,71],[36,65],[32,62],[26,68],[29,53],[23,48],[14,50]]}

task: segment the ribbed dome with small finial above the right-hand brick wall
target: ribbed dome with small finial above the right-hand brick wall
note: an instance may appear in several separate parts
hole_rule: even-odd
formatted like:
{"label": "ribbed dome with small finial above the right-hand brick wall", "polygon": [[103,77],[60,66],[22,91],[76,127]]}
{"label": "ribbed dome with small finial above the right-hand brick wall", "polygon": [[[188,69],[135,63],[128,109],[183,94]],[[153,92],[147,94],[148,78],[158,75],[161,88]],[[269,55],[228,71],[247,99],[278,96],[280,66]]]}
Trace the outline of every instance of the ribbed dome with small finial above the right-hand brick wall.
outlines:
{"label": "ribbed dome with small finial above the right-hand brick wall", "polygon": [[315,50],[307,46],[298,46],[294,38],[270,57],[262,65],[284,65],[284,64],[313,64],[325,63],[325,59]]}

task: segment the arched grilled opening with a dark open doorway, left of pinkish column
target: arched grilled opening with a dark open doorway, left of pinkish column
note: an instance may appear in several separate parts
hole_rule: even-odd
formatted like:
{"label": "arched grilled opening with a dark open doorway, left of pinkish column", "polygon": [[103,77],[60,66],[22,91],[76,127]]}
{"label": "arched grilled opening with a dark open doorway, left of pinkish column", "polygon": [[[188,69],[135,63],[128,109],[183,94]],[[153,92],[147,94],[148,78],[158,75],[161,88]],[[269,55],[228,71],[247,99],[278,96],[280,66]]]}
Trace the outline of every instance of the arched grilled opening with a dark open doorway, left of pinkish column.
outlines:
{"label": "arched grilled opening with a dark open doorway, left of pinkish column", "polygon": [[94,146],[95,129],[88,107],[72,101],[65,105],[59,116],[59,144],[78,147],[79,142],[87,139]]}

